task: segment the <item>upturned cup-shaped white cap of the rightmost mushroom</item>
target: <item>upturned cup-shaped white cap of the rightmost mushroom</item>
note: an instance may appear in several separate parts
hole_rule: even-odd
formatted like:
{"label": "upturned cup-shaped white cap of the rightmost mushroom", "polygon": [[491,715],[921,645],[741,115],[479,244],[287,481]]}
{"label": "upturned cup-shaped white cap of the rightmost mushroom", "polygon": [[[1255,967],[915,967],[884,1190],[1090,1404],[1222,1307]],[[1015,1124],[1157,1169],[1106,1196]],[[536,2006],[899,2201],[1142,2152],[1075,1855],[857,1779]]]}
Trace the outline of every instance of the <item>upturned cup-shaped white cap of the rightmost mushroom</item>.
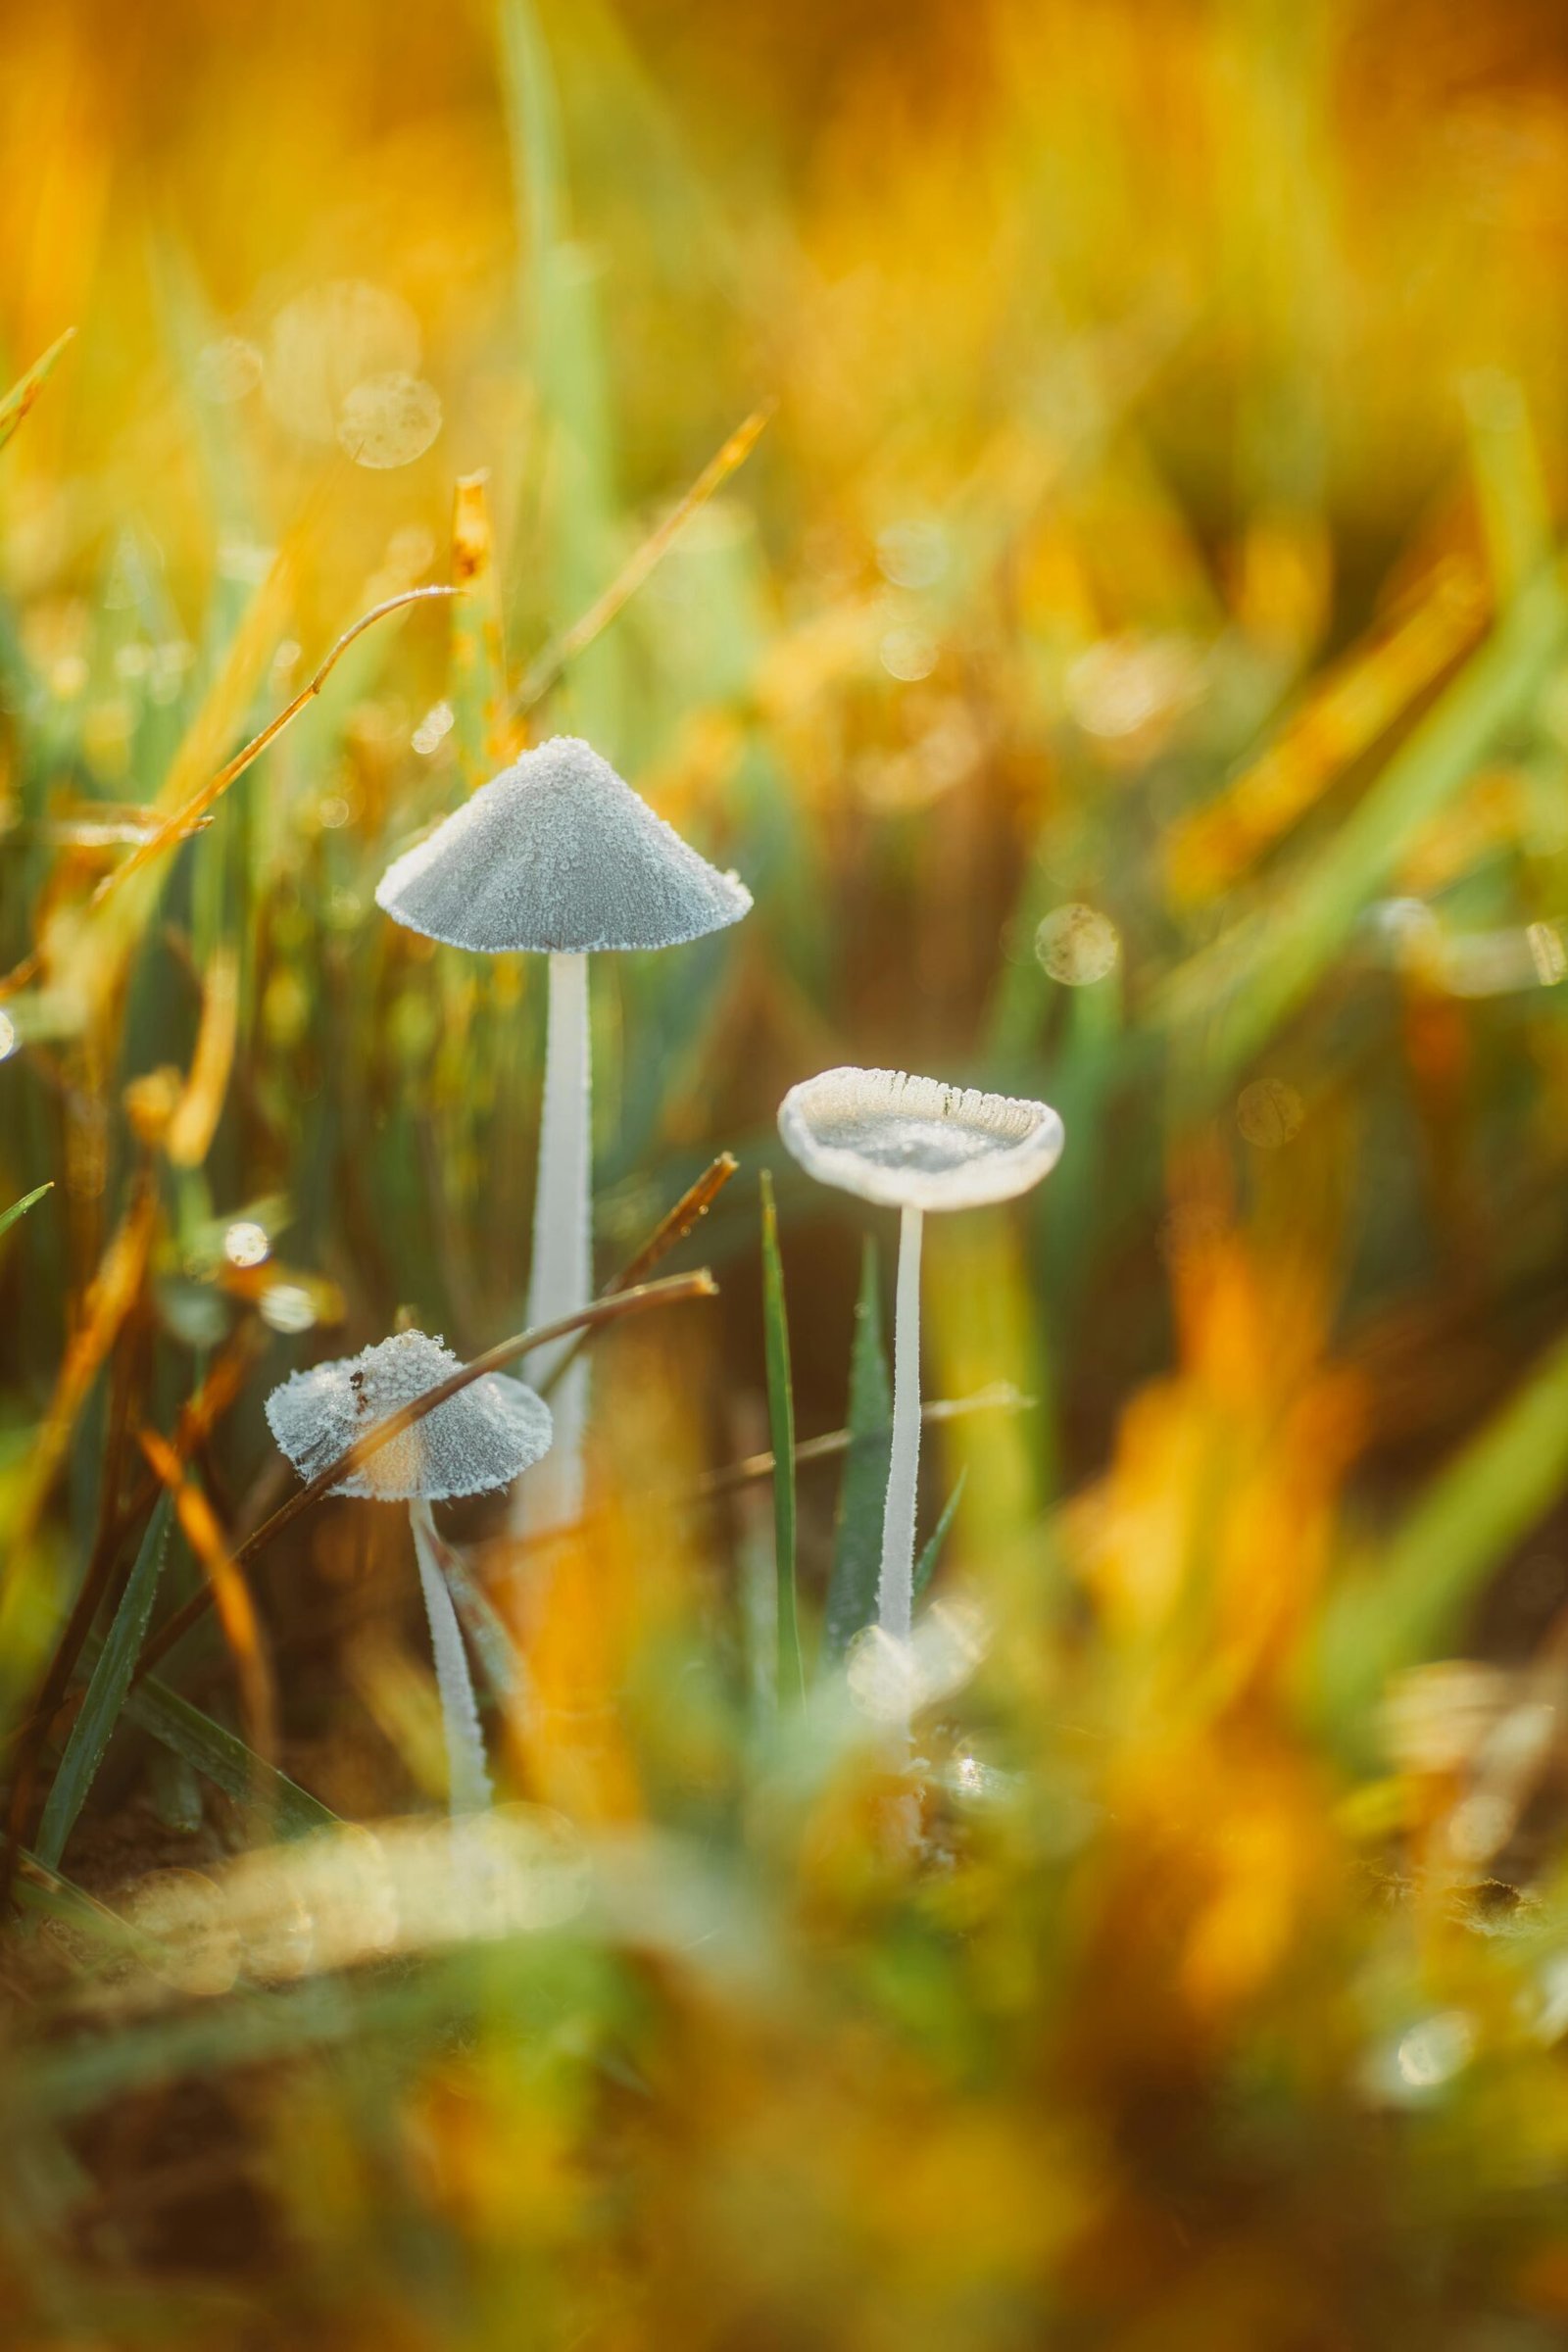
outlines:
{"label": "upturned cup-shaped white cap of the rightmost mushroom", "polygon": [[1063,1122],[1048,1103],[903,1070],[823,1070],[790,1087],[778,1134],[820,1183],[889,1209],[978,1209],[1048,1176]]}

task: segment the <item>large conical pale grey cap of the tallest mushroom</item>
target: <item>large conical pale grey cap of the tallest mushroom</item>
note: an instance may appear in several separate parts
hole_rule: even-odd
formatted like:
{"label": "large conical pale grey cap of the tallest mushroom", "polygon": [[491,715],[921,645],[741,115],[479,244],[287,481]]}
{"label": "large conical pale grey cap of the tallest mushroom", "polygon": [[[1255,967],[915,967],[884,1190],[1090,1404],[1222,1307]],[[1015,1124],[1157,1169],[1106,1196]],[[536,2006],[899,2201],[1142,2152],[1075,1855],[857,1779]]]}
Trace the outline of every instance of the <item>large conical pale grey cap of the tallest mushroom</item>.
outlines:
{"label": "large conical pale grey cap of the tallest mushroom", "polygon": [[395,858],[376,891],[409,931],[484,955],[675,948],[750,903],[576,736],[524,750]]}

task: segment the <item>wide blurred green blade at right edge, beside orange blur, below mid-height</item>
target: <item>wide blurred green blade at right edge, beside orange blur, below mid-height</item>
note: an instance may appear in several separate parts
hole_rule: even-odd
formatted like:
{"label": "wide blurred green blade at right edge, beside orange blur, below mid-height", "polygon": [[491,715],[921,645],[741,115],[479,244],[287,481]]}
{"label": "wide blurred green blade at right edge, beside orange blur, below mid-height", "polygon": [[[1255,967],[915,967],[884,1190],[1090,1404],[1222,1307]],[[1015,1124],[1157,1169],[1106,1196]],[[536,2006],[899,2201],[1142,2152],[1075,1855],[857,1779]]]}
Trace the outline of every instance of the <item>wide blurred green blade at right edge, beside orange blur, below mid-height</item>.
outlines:
{"label": "wide blurred green blade at right edge, beside orange blur, below mid-height", "polygon": [[1385,1682],[1432,1658],[1509,1545],[1568,1484],[1568,1338],[1432,1484],[1378,1564],[1328,1602],[1314,1696],[1356,1748]]}

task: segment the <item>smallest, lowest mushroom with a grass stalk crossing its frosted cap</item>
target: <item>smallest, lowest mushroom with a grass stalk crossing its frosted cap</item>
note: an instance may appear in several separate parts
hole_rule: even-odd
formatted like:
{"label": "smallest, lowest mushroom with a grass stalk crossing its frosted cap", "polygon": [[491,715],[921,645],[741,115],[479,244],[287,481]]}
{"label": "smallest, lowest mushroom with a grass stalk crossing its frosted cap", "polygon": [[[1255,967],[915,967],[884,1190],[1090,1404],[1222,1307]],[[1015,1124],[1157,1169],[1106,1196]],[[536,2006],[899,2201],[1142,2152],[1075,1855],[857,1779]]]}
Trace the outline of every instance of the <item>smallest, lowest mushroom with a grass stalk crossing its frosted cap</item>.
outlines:
{"label": "smallest, lowest mushroom with a grass stalk crossing its frosted cap", "polygon": [[[371,1423],[440,1388],[456,1369],[451,1348],[430,1334],[397,1331],[360,1355],[289,1374],[266,1399],[266,1418],[299,1475],[310,1479],[341,1461]],[[409,1505],[435,1649],[435,1684],[447,1736],[447,1792],[454,1813],[482,1811],[491,1799],[491,1785],[463,1632],[437,1564],[430,1503],[508,1486],[548,1454],[550,1435],[545,1399],[522,1381],[491,1374],[390,1437],[331,1489],[374,1503]]]}

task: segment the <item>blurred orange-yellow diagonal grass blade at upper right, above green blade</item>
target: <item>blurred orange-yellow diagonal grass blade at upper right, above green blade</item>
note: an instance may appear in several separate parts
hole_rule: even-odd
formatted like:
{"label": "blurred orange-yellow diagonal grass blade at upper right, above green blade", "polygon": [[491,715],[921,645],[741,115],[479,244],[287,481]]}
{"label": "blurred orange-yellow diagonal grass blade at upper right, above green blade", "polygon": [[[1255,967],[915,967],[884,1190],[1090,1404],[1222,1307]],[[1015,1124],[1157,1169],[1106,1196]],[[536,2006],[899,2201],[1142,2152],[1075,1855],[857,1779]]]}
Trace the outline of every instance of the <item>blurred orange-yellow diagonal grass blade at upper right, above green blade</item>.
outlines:
{"label": "blurred orange-yellow diagonal grass blade at upper right, above green blade", "polygon": [[1481,581],[1465,564],[1446,564],[1415,612],[1333,670],[1279,741],[1173,830],[1173,894],[1192,906],[1239,882],[1335,776],[1458,661],[1483,619]]}

